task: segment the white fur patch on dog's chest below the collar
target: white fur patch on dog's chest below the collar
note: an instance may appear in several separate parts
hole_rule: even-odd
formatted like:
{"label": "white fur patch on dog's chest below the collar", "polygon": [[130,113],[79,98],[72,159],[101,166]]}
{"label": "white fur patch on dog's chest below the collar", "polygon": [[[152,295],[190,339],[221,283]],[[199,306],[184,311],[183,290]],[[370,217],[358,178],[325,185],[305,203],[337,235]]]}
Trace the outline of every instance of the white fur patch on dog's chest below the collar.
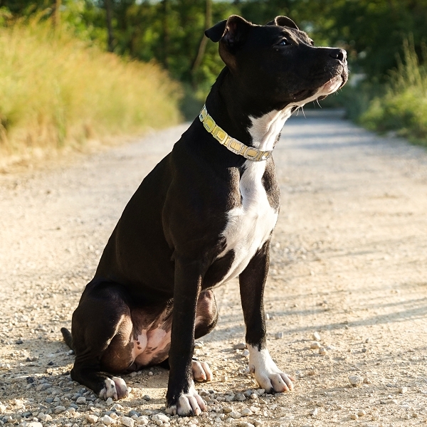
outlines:
{"label": "white fur patch on dog's chest below the collar", "polygon": [[270,206],[263,186],[265,162],[248,160],[245,166],[239,183],[241,206],[227,212],[226,228],[222,233],[226,248],[218,258],[229,251],[233,251],[234,257],[221,283],[243,272],[253,255],[268,240],[278,219],[278,209]]}

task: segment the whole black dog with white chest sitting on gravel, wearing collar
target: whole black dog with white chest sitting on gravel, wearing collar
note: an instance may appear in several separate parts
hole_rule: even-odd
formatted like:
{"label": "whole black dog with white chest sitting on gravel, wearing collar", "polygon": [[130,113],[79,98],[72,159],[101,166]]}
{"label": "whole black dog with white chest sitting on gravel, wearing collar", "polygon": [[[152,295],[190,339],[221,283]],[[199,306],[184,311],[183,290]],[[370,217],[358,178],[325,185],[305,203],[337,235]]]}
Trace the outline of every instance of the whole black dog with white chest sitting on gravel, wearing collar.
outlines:
{"label": "whole black dog with white chest sitting on gravel, wearing collar", "polygon": [[206,31],[226,67],[206,107],[142,181],[73,314],[71,376],[101,398],[127,396],[113,374],[167,362],[167,411],[198,415],[194,339],[216,325],[212,289],[238,277],[249,367],[267,391],[292,389],[265,340],[263,292],[280,194],[271,152],[285,120],[347,80],[346,53],[315,48],[285,16],[231,16]]}

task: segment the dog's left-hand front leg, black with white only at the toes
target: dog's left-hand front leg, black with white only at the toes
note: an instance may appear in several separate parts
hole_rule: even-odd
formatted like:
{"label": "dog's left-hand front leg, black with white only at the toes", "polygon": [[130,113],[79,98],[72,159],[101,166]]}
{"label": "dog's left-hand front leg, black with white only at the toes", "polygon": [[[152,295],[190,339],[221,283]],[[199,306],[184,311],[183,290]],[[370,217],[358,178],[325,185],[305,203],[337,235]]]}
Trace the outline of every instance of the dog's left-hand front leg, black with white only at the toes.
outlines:
{"label": "dog's left-hand front leg, black with white only at the toes", "polygon": [[206,404],[194,388],[191,358],[194,352],[196,307],[201,290],[201,263],[175,258],[174,311],[167,413],[180,416],[200,415]]}

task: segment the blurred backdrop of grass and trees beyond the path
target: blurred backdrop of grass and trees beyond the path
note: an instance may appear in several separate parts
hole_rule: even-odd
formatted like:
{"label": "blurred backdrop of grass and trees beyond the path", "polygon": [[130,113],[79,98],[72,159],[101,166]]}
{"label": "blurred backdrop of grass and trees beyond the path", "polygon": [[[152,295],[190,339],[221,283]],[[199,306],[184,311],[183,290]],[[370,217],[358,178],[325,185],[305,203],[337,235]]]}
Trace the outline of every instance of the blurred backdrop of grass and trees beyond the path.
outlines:
{"label": "blurred backdrop of grass and trees beyond the path", "polygon": [[223,67],[204,29],[231,14],[347,49],[322,107],[426,144],[427,0],[0,0],[0,157],[192,120]]}

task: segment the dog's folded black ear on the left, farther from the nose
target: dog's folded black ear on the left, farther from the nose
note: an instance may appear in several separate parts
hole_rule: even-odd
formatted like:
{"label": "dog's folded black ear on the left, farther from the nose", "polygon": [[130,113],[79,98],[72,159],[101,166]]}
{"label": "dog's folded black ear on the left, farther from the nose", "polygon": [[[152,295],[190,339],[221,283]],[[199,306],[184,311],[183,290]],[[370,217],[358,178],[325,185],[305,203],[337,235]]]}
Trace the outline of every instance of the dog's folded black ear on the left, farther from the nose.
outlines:
{"label": "dog's folded black ear on the left, farther from the nose", "polygon": [[213,27],[205,31],[206,37],[211,41],[221,41],[227,44],[228,48],[240,46],[248,36],[252,24],[238,15],[231,15],[227,20],[218,22]]}

